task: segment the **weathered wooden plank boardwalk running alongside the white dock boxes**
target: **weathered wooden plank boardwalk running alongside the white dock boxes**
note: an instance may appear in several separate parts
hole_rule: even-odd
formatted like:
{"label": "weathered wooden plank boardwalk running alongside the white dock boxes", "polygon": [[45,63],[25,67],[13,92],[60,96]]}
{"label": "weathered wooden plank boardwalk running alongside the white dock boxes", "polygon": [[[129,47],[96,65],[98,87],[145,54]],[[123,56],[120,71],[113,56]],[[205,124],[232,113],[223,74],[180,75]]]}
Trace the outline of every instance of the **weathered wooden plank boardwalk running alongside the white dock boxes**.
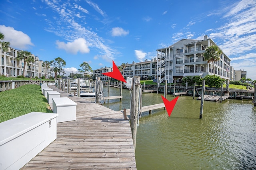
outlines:
{"label": "weathered wooden plank boardwalk running alongside the white dock boxes", "polygon": [[49,88],[77,103],[76,121],[57,123],[57,139],[22,170],[136,170],[130,123],[121,113]]}

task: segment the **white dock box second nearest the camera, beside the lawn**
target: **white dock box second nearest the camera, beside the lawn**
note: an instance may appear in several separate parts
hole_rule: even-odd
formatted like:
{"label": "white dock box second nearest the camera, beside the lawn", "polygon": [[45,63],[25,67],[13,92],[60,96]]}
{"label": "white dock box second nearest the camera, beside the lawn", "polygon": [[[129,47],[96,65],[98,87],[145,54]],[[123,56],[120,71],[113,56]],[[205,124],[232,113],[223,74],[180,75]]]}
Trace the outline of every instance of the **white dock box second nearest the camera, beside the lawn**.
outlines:
{"label": "white dock box second nearest the camera, beside the lawn", "polygon": [[52,98],[52,111],[58,113],[57,123],[76,120],[76,102],[69,98]]}

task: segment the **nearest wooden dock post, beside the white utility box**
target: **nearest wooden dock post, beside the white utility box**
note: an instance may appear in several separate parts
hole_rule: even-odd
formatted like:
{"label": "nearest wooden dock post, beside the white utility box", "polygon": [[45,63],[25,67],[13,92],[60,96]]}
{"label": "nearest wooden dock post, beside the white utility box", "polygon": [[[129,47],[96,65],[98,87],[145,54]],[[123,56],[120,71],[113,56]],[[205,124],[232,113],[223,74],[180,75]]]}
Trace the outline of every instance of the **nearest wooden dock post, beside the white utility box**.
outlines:
{"label": "nearest wooden dock post, beside the white utility box", "polygon": [[137,136],[137,121],[138,121],[138,104],[139,104],[139,90],[140,86],[136,85],[140,83],[140,77],[133,78],[133,88],[132,88],[132,100],[131,100],[131,109],[130,109],[130,125],[132,130],[132,141],[134,152],[136,149],[136,136]]}

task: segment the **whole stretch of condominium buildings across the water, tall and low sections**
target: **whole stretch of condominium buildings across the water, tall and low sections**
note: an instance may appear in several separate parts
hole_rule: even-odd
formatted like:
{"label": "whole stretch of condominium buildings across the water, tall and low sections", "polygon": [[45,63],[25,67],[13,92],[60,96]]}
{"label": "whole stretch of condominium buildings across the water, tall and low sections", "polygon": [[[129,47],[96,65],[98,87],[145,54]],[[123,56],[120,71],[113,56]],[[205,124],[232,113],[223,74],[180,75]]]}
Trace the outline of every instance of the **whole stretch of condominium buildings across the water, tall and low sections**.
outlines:
{"label": "whole stretch of condominium buildings across the water, tall and low sections", "polygon": [[[203,40],[182,39],[169,47],[157,49],[157,57],[150,61],[126,63],[126,67],[121,73],[125,79],[126,76],[140,76],[142,80],[150,77],[155,82],[167,80],[168,83],[178,82],[185,76],[201,76],[203,78],[208,74],[213,75],[212,63],[205,61],[203,56],[205,49],[212,45],[216,44],[207,35]],[[230,59],[224,53],[221,54],[219,61],[214,62],[214,67],[217,76],[230,80]],[[108,80],[108,77],[101,73],[111,71],[112,67],[102,67],[94,70],[93,76],[95,77],[97,74],[102,80]],[[234,77],[234,73],[231,77]]]}

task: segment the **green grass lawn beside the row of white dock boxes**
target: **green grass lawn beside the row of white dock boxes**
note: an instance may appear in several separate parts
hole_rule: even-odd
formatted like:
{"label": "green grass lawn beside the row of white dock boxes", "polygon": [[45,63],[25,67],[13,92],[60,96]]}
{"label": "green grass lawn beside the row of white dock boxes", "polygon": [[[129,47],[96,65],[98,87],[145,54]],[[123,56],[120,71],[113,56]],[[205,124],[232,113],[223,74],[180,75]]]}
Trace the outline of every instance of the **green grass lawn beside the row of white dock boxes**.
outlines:
{"label": "green grass lawn beside the row of white dock boxes", "polygon": [[0,93],[0,122],[33,111],[52,113],[40,86],[29,84]]}

